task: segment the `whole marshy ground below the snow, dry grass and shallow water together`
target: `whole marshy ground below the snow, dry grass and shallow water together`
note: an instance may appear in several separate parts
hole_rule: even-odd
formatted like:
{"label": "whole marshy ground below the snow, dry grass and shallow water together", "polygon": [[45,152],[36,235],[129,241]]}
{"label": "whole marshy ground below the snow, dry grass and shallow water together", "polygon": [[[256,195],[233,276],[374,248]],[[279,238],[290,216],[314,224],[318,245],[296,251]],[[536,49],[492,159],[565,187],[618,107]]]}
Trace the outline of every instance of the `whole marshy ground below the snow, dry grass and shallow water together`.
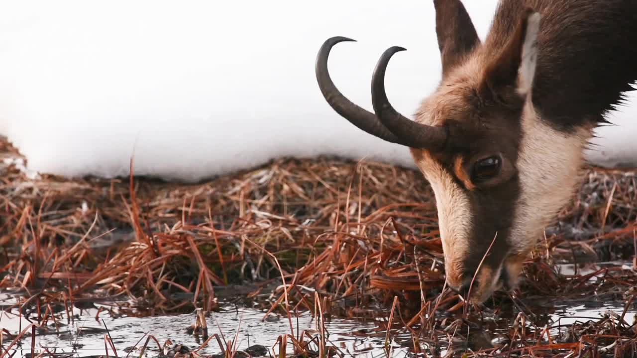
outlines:
{"label": "whole marshy ground below the snow, dry grass and shallow water together", "polygon": [[[443,290],[433,194],[415,171],[281,159],[185,185],[34,177],[6,142],[0,159],[3,355],[31,342],[41,356],[140,355],[122,352],[149,335],[145,354],[189,355],[206,341],[185,331],[200,309],[201,355],[244,350],[250,334],[268,354],[354,355],[344,341],[357,337],[371,356],[388,342],[392,355],[637,356],[629,169],[589,168],[519,289],[478,307]],[[154,348],[166,341],[192,350]]]}

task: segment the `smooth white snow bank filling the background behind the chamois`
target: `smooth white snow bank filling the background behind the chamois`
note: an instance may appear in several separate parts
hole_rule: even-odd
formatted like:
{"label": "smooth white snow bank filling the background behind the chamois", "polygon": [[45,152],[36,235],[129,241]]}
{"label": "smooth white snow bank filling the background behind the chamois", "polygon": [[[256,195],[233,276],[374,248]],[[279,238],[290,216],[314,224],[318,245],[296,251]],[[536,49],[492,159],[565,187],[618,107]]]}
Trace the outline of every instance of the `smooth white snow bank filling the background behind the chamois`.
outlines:
{"label": "smooth white snow bank filling the background behind the chamois", "polygon": [[[465,3],[483,38],[496,0]],[[341,92],[371,110],[378,57],[408,48],[392,59],[386,87],[409,115],[440,80],[434,29],[433,3],[420,0],[4,2],[0,134],[30,170],[66,176],[125,176],[133,154],[138,175],[186,181],[282,156],[413,167],[406,148],[329,108],[314,61],[330,36],[359,40],[335,47],[329,66]],[[603,132],[592,158],[633,157],[627,132]]]}

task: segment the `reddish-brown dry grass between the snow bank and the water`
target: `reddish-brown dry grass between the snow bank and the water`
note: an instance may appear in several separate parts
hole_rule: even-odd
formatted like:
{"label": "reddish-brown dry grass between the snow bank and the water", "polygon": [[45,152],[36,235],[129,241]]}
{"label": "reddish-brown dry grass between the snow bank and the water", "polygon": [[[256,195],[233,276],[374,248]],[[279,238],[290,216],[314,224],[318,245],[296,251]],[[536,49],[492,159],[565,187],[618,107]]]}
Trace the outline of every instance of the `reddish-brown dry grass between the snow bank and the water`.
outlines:
{"label": "reddish-brown dry grass between the snow bank and the water", "polygon": [[[0,153],[17,155],[1,141]],[[217,296],[229,292],[288,317],[316,315],[317,307],[326,317],[391,315],[390,326],[412,334],[416,351],[423,342],[479,350],[481,335],[468,331],[485,331],[490,317],[512,326],[483,355],[636,352],[635,328],[624,317],[557,337],[545,334],[543,316],[529,304],[596,297],[634,310],[633,270],[562,275],[555,266],[633,257],[637,176],[630,171],[590,169],[529,258],[525,283],[485,307],[464,307],[443,289],[433,194],[415,171],[282,159],[196,185],[31,180],[13,165],[0,178],[0,289],[22,292],[15,308],[38,322],[54,319],[60,306],[96,301],[139,315],[215,310]]]}

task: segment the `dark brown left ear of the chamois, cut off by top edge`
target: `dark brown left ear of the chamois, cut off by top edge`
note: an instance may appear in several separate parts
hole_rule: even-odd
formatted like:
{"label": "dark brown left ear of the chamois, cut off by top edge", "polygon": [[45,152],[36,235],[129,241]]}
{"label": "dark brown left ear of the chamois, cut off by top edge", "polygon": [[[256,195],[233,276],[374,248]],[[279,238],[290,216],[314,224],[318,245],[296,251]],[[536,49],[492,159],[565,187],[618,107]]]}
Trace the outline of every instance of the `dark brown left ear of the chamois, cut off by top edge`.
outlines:
{"label": "dark brown left ear of the chamois, cut off by top edge", "polygon": [[480,43],[480,39],[460,0],[434,0],[434,8],[442,73],[445,76]]}

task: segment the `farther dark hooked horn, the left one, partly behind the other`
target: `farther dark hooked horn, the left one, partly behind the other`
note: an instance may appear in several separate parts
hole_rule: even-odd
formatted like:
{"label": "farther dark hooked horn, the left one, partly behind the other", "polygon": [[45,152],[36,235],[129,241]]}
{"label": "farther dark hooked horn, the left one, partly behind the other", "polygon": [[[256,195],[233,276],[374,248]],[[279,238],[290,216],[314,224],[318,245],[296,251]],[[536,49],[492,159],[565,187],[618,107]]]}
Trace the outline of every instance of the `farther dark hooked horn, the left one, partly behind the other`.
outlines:
{"label": "farther dark hooked horn, the left one, partly behind the other", "polygon": [[316,61],[316,75],[318,81],[318,87],[325,97],[327,103],[340,114],[341,117],[347,119],[350,123],[359,127],[363,131],[368,132],[382,140],[390,141],[392,143],[403,144],[392,132],[390,132],[379,120],[374,113],[371,113],[363,108],[352,103],[347,97],[343,96],[341,92],[336,88],[332,78],[327,71],[327,57],[329,57],[329,51],[334,45],[343,41],[355,41],[354,39],[345,38],[342,36],[336,36],[327,39],[318,50]]}

